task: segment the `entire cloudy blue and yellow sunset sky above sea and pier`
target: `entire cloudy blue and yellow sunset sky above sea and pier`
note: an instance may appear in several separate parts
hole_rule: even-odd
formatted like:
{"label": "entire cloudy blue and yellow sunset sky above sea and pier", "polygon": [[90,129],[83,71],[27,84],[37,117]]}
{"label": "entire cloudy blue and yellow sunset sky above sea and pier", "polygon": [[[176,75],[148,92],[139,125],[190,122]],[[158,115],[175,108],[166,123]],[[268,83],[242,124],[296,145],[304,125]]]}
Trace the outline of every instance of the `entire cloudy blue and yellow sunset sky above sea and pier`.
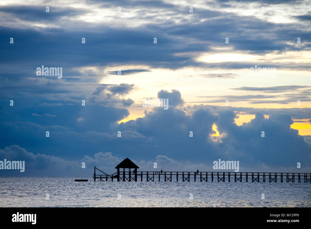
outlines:
{"label": "entire cloudy blue and yellow sunset sky above sea and pier", "polygon": [[310,172],[310,15],[311,1],[0,0],[0,160],[26,167],[0,176],[112,174],[127,157]]}

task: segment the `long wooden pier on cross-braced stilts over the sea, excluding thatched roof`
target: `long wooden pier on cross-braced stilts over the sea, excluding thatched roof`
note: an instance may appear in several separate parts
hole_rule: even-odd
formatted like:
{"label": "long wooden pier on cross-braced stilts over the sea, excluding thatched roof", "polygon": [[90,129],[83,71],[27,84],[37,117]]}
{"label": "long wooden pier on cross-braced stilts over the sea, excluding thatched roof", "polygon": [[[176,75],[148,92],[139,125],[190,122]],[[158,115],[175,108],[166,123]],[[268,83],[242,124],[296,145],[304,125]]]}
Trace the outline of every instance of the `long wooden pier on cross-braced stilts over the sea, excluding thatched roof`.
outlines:
{"label": "long wooden pier on cross-braced stilts over the sea, excluding thatched roof", "polygon": [[[248,182],[248,178],[251,178],[252,182],[286,182],[294,183],[295,180],[298,183],[301,183],[302,179],[304,183],[311,183],[311,173],[252,173],[252,172],[167,172],[163,171],[162,173],[157,171],[137,171],[134,172],[129,169],[129,171],[119,171],[109,175],[97,169],[102,174],[96,174],[96,169],[94,167],[94,181],[162,181],[164,180],[172,182],[181,180],[183,182],[232,182],[230,178],[234,178],[234,182],[242,182],[242,179],[245,182]],[[172,179],[173,178],[173,179]],[[175,178],[175,179],[174,179]],[[269,178],[269,179],[266,179]],[[250,180],[249,180],[250,181]]]}

